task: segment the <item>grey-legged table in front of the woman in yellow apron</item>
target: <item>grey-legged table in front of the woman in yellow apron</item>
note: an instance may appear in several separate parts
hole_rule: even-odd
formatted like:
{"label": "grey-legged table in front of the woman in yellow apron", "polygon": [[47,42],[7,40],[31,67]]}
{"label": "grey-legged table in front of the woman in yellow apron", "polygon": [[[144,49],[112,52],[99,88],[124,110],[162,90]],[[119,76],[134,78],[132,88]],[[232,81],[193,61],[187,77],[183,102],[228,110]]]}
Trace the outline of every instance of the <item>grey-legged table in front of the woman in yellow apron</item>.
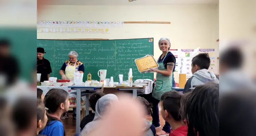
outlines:
{"label": "grey-legged table in front of the woman in yellow apron", "polygon": [[[89,114],[89,95],[96,92],[96,89],[101,89],[102,87],[93,87],[93,86],[68,86],[72,90],[76,90],[76,92],[72,92],[71,94],[76,94],[77,99],[81,99],[81,95],[85,96],[85,116]],[[85,91],[81,91],[85,90]],[[78,101],[76,101],[77,103]],[[77,105],[77,118],[76,118],[76,133],[80,133],[80,108],[81,105],[79,103]]]}

